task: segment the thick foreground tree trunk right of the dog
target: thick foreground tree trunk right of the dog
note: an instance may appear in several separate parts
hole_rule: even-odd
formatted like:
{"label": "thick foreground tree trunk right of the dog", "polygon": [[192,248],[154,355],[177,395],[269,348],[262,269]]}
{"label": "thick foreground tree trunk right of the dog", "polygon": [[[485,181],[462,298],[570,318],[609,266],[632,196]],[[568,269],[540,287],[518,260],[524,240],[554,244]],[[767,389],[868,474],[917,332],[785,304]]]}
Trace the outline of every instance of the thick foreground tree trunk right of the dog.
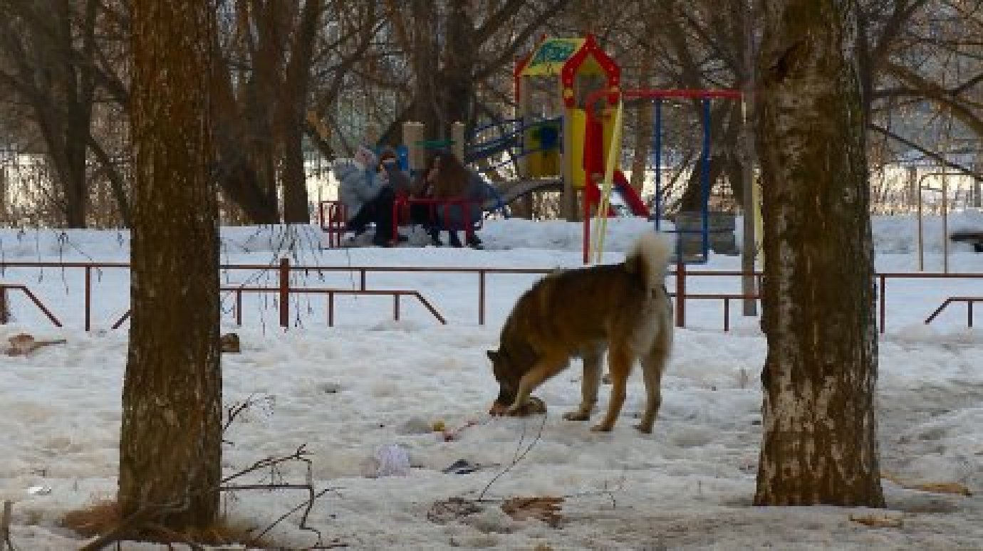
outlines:
{"label": "thick foreground tree trunk right of the dog", "polygon": [[757,505],[883,507],[855,0],[766,0],[758,59],[768,357]]}

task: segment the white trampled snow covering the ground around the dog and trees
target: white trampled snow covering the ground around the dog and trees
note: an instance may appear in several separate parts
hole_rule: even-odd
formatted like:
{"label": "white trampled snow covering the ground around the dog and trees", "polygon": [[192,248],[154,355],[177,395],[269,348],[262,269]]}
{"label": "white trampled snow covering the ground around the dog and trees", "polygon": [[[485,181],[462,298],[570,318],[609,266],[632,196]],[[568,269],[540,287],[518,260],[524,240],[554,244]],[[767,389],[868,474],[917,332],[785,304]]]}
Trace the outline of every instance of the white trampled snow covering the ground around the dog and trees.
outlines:
{"label": "white trampled snow covering the ground around the dog and trees", "polygon": [[[954,221],[969,226],[977,220],[973,213],[954,215],[951,229]],[[875,220],[879,271],[915,271],[914,224],[910,217]],[[608,228],[606,261],[616,261],[650,225],[616,219]],[[581,244],[578,225],[522,220],[488,223],[482,232],[487,250],[318,250],[320,236],[306,226],[226,228],[222,237],[223,263],[260,265],[275,264],[293,240],[293,263],[344,268],[298,272],[293,285],[344,289],[358,286],[352,266],[551,269],[578,265]],[[929,270],[941,269],[941,239],[941,222],[929,219]],[[128,244],[123,231],[2,230],[0,259],[125,262]],[[967,248],[951,248],[950,261],[953,271],[983,272],[983,254]],[[734,270],[739,264],[738,257],[713,255],[692,269]],[[222,281],[275,286],[276,277],[275,269],[249,269],[225,273]],[[368,274],[370,289],[419,290],[447,325],[409,300],[395,322],[391,298],[338,297],[336,326],[328,328],[324,298],[303,296],[292,299],[292,326],[283,331],[274,297],[260,296],[245,299],[245,323],[236,327],[233,296],[223,295],[223,332],[237,332],[243,344],[242,354],[223,357],[224,401],[227,407],[251,397],[258,401],[226,433],[226,473],[306,445],[316,488],[333,488],[318,499],[309,524],[326,540],[354,549],[980,548],[983,333],[965,326],[961,304],[932,325],[923,324],[943,298],[979,295],[979,280],[889,280],[878,385],[884,472],[905,485],[960,483],[973,496],[905,489],[885,480],[888,510],[872,512],[751,506],[761,439],[758,380],[767,346],[757,318],[741,317],[737,303],[731,304],[728,333],[719,302],[687,303],[687,327],[675,334],[663,407],[651,435],[631,428],[631,417],[644,403],[638,372],[612,433],[595,434],[588,423],[560,418],[579,402],[578,361],[536,392],[549,407],[545,419],[489,417],[497,387],[485,351],[496,345],[504,316],[537,277],[489,275],[484,326],[477,322],[474,274]],[[0,500],[14,502],[12,540],[18,549],[78,548],[86,540],[59,527],[60,519],[115,494],[127,332],[126,325],[110,325],[126,310],[128,273],[103,268],[92,279],[93,328],[86,332],[82,269],[7,266],[0,272],[0,282],[28,285],[64,324],[53,327],[12,294],[15,320],[0,326],[0,344],[22,332],[68,341],[27,357],[0,356],[0,434],[6,436]],[[740,289],[733,277],[687,283],[698,293]],[[607,387],[600,406],[606,404]],[[429,430],[436,421],[460,429],[458,437],[443,441]],[[459,520],[428,520],[434,502],[476,499],[533,441],[528,455],[485,498],[565,496],[559,528],[514,521],[495,501]],[[379,451],[392,444],[408,453],[410,474],[366,476]],[[468,474],[442,471],[458,460],[479,468]],[[283,481],[304,481],[299,466],[286,466],[282,475]],[[303,498],[302,492],[240,492],[227,511],[233,523],[265,526]],[[865,514],[899,518],[903,525],[875,528],[849,520]],[[299,514],[291,515],[270,539],[290,548],[312,545],[315,536],[299,522]]]}

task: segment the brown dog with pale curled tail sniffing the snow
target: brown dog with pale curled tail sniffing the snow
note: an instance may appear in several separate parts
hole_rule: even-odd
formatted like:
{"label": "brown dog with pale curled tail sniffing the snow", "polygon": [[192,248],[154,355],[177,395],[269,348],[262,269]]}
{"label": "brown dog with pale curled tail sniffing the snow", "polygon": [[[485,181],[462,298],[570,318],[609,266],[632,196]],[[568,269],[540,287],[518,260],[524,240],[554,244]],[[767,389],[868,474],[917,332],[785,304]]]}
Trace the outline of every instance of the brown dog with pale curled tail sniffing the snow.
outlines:
{"label": "brown dog with pale curled tail sniffing the snow", "polygon": [[672,347],[672,306],[665,290],[671,248],[665,235],[646,234],[619,264],[559,270],[526,291],[505,320],[498,350],[488,351],[498,381],[498,397],[490,413],[521,414],[536,387],[565,369],[571,357],[580,356],[584,362],[580,407],[563,417],[590,419],[607,351],[613,387],[607,415],[592,430],[614,428],[628,375],[638,358],[647,402],[636,428],[652,432]]}

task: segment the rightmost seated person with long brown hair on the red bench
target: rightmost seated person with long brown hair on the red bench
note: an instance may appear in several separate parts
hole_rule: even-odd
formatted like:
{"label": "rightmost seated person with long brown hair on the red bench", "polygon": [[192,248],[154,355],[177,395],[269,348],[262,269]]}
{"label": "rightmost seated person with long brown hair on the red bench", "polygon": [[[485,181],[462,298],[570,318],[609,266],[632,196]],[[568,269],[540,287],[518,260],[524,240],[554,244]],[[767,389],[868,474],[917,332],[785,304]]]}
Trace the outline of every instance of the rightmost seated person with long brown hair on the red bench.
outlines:
{"label": "rightmost seated person with long brown hair on the red bench", "polygon": [[[449,151],[437,151],[428,160],[420,178],[413,186],[412,196],[436,200],[463,199],[468,201],[467,212],[461,204],[414,204],[410,218],[428,228],[432,243],[440,247],[440,229],[447,231],[450,245],[462,247],[458,229],[465,229],[481,218],[482,204],[488,198],[488,188],[481,176],[465,168]],[[481,240],[469,233],[468,245],[481,247]]]}

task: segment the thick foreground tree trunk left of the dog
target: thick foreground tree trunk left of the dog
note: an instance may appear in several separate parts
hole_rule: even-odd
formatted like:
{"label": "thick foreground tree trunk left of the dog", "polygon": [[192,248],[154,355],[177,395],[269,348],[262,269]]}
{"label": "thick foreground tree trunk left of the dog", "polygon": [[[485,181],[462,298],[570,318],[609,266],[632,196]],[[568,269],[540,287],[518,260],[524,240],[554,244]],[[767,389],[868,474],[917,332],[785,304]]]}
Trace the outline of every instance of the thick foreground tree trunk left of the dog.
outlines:
{"label": "thick foreground tree trunk left of the dog", "polygon": [[221,478],[214,14],[199,0],[132,10],[133,315],[118,499],[124,517],[184,530],[215,522]]}

